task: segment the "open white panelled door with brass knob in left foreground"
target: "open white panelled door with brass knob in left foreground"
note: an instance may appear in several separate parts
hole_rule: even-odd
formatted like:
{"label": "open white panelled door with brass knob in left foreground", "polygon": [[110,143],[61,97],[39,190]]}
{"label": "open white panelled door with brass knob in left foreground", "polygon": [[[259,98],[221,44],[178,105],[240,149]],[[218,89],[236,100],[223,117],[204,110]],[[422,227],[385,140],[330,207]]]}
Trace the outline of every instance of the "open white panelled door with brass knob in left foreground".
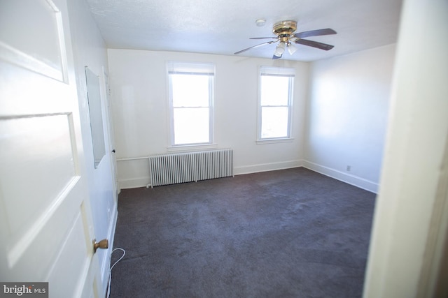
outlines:
{"label": "open white panelled door with brass knob in left foreground", "polygon": [[0,281],[99,297],[66,0],[0,0]]}

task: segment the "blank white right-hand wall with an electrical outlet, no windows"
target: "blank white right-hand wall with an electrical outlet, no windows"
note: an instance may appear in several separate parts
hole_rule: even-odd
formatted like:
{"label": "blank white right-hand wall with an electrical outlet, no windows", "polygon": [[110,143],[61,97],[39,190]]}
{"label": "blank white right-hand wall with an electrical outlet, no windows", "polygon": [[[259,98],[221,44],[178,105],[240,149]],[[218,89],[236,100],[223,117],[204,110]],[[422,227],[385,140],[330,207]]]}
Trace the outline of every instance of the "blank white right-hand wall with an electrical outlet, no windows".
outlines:
{"label": "blank white right-hand wall with an electrical outlet, no windows", "polygon": [[311,64],[305,167],[377,192],[394,54],[386,45]]}

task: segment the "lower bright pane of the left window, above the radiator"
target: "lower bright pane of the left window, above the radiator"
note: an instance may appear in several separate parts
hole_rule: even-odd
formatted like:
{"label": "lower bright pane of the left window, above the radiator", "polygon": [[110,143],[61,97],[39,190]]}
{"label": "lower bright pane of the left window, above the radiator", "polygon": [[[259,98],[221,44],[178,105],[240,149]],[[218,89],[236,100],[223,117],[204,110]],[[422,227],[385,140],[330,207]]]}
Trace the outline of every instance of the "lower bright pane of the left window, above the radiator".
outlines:
{"label": "lower bright pane of the left window, above the radiator", "polygon": [[174,144],[207,143],[209,140],[209,108],[174,109]]}

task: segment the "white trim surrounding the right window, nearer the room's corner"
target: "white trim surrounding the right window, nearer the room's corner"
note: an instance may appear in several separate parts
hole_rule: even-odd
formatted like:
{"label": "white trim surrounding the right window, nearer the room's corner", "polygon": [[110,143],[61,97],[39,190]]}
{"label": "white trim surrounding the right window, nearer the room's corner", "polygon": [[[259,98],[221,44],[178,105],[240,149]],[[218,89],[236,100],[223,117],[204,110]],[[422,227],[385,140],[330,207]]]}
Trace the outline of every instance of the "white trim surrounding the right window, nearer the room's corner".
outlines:
{"label": "white trim surrounding the right window, nearer the room's corner", "polygon": [[294,103],[294,80],[290,82],[290,96],[288,98],[288,136],[287,137],[261,137],[261,75],[281,75],[295,78],[294,68],[283,68],[274,66],[260,66],[258,69],[258,123],[257,123],[257,138],[256,144],[274,144],[283,142],[293,142],[293,103]]}

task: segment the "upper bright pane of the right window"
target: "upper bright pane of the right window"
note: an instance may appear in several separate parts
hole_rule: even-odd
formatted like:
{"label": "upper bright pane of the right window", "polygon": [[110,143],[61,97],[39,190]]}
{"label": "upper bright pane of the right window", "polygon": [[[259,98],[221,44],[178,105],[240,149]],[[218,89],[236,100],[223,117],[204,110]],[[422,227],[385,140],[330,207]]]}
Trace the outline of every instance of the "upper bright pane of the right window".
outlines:
{"label": "upper bright pane of the right window", "polygon": [[261,105],[288,105],[290,77],[261,76]]}

